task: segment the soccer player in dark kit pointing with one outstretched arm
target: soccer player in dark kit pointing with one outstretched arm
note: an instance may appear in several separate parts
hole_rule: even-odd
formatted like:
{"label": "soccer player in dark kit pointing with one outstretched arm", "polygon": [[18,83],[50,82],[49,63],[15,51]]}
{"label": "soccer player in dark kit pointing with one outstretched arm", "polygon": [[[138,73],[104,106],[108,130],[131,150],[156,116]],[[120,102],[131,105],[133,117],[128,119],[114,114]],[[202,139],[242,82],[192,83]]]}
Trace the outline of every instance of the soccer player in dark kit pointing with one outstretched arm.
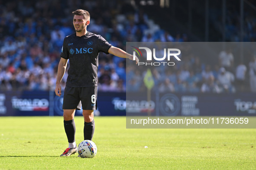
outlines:
{"label": "soccer player in dark kit pointing with one outstretched arm", "polygon": [[[72,12],[75,33],[64,38],[61,59],[58,64],[55,94],[61,96],[60,82],[69,60],[68,78],[64,90],[63,117],[64,129],[68,138],[68,148],[60,155],[70,156],[78,149],[75,142],[75,110],[83,107],[84,140],[94,135],[94,112],[97,110],[97,69],[99,52],[133,60],[133,55],[113,47],[100,35],[87,31],[90,14],[83,9]],[[139,59],[135,57],[136,64]]]}

